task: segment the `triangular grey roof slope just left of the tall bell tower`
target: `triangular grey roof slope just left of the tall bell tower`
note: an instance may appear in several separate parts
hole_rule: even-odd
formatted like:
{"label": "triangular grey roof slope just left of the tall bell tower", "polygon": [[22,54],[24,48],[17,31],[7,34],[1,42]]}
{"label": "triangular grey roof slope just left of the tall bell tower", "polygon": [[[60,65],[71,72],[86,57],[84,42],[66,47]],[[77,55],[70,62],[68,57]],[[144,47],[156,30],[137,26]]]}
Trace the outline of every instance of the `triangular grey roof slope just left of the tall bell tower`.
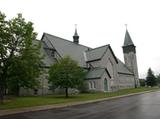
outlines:
{"label": "triangular grey roof slope just left of the tall bell tower", "polygon": [[118,59],[118,64],[117,64],[117,70],[118,73],[124,73],[124,74],[133,74],[128,67],[121,61]]}

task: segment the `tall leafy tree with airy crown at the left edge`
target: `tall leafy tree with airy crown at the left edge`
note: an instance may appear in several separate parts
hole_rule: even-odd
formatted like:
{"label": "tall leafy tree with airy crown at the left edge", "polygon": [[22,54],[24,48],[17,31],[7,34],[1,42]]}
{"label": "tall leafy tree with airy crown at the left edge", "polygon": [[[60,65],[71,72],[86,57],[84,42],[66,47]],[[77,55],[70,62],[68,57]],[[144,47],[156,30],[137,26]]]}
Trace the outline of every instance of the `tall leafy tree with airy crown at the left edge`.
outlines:
{"label": "tall leafy tree with airy crown at the left edge", "polygon": [[[39,57],[38,54],[35,57],[32,57],[31,52],[36,51],[36,48],[33,46],[32,41],[36,39],[36,33],[34,32],[33,23],[26,22],[21,14],[18,14],[17,17],[6,20],[5,14],[0,12],[0,101],[3,102],[4,92],[7,88],[7,83],[10,80],[15,81],[15,75],[21,74],[20,70],[24,70],[27,65],[28,68],[23,71],[28,72],[29,67],[32,65],[38,65],[37,62],[31,62],[30,58]],[[34,50],[33,50],[34,49]],[[37,48],[38,50],[38,48]],[[38,52],[38,51],[37,51]],[[31,55],[31,56],[30,56]],[[30,61],[28,61],[30,59]],[[39,59],[37,61],[39,62]],[[32,59],[35,61],[35,59]],[[27,63],[26,63],[27,62]],[[15,69],[18,68],[18,69]],[[20,68],[21,67],[21,68]],[[13,69],[14,68],[14,69]],[[32,69],[32,68],[31,68]],[[33,71],[33,70],[32,70]],[[29,77],[32,75],[30,73],[17,75],[16,78],[23,80],[24,77]],[[35,71],[35,70],[34,70]],[[39,70],[37,70],[39,71]],[[13,77],[10,77],[10,76]],[[36,74],[37,75],[37,74]],[[15,81],[16,82],[16,81]]]}

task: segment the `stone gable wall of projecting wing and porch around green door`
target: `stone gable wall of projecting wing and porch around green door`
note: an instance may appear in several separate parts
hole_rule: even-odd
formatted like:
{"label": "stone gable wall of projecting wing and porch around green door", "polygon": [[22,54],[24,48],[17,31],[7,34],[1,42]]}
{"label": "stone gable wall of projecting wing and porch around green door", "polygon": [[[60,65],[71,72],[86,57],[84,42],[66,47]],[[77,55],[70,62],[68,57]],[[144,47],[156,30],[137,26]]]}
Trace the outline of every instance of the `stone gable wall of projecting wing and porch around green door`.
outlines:
{"label": "stone gable wall of projecting wing and porch around green door", "polygon": [[101,67],[107,68],[109,74],[111,75],[111,79],[105,73],[101,80],[96,81],[96,85],[98,85],[98,91],[104,91],[104,79],[108,80],[108,91],[116,91],[119,89],[119,77],[117,73],[117,63],[110,51],[108,49],[101,60],[94,61],[90,63],[93,67]]}

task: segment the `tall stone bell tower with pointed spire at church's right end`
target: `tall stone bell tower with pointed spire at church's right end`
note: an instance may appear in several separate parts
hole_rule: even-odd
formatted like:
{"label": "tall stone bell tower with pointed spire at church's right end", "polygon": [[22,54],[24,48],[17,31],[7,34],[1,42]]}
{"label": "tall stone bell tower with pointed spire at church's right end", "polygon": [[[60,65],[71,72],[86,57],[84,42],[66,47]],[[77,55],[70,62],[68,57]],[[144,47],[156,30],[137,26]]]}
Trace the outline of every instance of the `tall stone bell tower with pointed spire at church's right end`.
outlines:
{"label": "tall stone bell tower with pointed spire at church's right end", "polygon": [[135,87],[137,87],[139,86],[139,75],[138,75],[138,66],[136,57],[136,46],[132,42],[132,39],[129,35],[127,28],[122,48],[123,48],[125,64],[133,72],[135,79]]}

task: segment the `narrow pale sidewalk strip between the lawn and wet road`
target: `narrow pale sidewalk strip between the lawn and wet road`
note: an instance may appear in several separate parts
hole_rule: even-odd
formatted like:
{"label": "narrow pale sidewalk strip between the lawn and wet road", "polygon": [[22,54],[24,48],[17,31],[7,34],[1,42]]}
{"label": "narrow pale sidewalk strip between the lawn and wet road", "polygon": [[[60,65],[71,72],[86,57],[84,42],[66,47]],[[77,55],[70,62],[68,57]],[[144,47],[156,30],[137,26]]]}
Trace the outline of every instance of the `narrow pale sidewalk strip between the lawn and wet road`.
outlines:
{"label": "narrow pale sidewalk strip between the lawn and wet road", "polygon": [[89,104],[89,103],[112,100],[112,99],[128,97],[128,96],[133,96],[133,95],[139,95],[139,94],[144,94],[144,93],[149,93],[149,92],[153,92],[153,91],[145,91],[145,92],[140,92],[140,93],[133,93],[133,94],[128,94],[128,95],[121,95],[121,96],[116,96],[116,97],[102,98],[102,99],[89,100],[89,101],[83,101],[83,102],[73,102],[73,103],[68,103],[68,104],[53,104],[53,105],[43,105],[43,106],[34,106],[34,107],[24,107],[24,108],[17,108],[17,109],[6,109],[6,110],[0,110],[0,116],[17,114],[17,113],[24,113],[24,112],[33,112],[33,111],[41,111],[41,110],[48,110],[48,109],[64,108],[64,107],[74,106],[74,105]]}

